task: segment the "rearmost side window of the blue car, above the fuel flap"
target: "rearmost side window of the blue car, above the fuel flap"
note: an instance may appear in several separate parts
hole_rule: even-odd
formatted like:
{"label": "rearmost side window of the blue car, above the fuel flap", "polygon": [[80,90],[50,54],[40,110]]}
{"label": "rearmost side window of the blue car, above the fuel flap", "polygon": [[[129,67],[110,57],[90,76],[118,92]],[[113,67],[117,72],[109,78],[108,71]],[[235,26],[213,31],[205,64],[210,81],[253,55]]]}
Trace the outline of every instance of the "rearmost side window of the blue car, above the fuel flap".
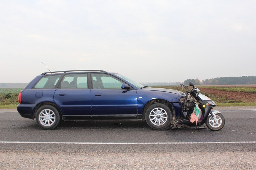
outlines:
{"label": "rearmost side window of the blue car, above the fuel flap", "polygon": [[34,86],[35,89],[52,89],[57,88],[56,85],[61,75],[44,76]]}

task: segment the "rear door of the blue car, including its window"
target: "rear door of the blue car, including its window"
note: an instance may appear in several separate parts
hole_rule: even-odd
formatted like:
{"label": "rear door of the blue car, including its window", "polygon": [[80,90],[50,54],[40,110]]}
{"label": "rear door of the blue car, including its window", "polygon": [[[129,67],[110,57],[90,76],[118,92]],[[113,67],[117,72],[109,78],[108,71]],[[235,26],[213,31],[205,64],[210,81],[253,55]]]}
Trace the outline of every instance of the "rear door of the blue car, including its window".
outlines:
{"label": "rear door of the blue car, including its window", "polygon": [[88,74],[65,74],[54,93],[54,101],[65,116],[91,116],[91,89]]}

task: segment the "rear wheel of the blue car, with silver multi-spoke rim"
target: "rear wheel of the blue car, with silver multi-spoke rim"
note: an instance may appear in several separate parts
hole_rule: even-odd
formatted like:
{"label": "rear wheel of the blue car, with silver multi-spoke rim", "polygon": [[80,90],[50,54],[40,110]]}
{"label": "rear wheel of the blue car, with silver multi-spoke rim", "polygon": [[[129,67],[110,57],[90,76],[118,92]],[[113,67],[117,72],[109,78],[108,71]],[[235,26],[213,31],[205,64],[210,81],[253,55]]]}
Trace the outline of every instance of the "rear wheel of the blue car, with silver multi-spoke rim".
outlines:
{"label": "rear wheel of the blue car, with silver multi-spoke rim", "polygon": [[54,106],[44,105],[41,106],[36,112],[36,122],[40,128],[51,130],[60,125],[61,114]]}

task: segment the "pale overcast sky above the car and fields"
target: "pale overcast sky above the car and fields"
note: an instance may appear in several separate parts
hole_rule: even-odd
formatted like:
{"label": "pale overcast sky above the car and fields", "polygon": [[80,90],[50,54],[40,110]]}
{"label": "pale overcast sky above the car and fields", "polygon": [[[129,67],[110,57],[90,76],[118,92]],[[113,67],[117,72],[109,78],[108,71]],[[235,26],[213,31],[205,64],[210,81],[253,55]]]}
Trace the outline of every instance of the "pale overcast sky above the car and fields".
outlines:
{"label": "pale overcast sky above the car and fields", "polygon": [[102,69],[138,82],[256,76],[256,1],[0,1],[0,83]]}

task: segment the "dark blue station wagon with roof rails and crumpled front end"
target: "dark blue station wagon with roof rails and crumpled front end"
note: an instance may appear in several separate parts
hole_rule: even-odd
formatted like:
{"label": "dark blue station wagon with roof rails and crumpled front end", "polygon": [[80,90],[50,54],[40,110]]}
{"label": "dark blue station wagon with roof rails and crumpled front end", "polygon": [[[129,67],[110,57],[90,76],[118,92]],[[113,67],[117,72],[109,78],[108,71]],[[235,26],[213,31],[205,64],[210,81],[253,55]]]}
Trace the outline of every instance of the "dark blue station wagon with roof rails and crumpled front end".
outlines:
{"label": "dark blue station wagon with roof rails and crumpled front end", "polygon": [[103,70],[56,71],[34,78],[20,92],[17,110],[43,129],[68,120],[140,119],[164,130],[170,128],[173,115],[180,116],[183,96]]}

